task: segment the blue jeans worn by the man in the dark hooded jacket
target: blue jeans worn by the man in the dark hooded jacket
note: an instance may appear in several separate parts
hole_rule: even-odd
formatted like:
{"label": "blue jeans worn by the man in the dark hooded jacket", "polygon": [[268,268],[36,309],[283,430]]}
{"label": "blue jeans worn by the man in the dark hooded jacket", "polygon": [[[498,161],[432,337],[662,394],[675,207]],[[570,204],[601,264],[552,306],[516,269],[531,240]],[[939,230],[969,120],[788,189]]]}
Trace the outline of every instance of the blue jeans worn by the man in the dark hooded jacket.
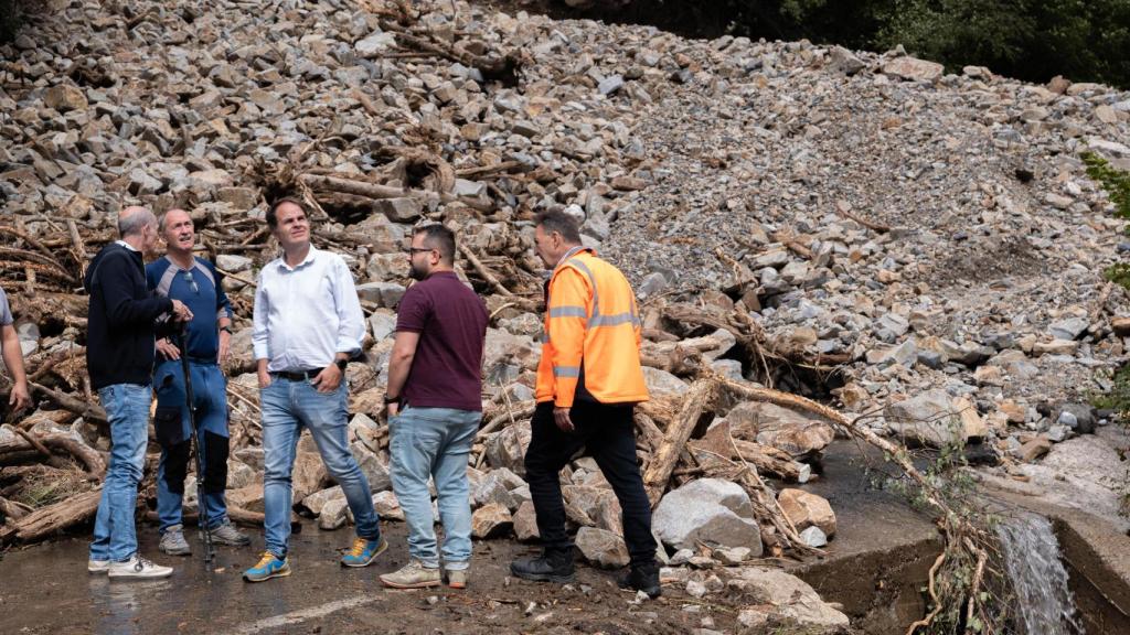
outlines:
{"label": "blue jeans worn by the man in the dark hooded jacket", "polygon": [[133,511],[149,440],[148,385],[113,384],[98,391],[110,419],[110,468],[94,519],[92,560],[124,562],[138,550]]}

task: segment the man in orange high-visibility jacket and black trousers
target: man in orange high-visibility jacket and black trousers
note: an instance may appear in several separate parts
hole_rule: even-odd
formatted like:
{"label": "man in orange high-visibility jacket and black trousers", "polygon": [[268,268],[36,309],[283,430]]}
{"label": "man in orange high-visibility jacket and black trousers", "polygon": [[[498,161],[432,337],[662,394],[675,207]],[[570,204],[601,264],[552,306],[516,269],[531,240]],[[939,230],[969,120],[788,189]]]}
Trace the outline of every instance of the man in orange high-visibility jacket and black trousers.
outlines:
{"label": "man in orange high-visibility jacket and black trousers", "polygon": [[537,410],[525,477],[544,551],[511,563],[518,577],[567,583],[573,546],[565,532],[558,475],[586,449],[624,512],[631,569],[620,586],[660,594],[651,505],[635,453],[633,408],[647,400],[640,365],[641,321],[632,286],[612,264],[581,244],[576,221],[560,211],[538,216],[538,255],[546,284],[546,338],[538,364]]}

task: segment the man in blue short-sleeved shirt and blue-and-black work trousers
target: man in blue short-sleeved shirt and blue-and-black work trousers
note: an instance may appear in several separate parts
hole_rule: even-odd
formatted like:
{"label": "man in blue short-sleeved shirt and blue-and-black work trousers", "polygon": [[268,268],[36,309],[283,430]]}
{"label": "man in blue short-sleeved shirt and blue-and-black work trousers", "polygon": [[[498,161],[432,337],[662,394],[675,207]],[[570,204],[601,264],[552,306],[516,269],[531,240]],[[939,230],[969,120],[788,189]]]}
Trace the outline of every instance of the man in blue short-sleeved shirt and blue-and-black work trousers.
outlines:
{"label": "man in blue short-sleeved shirt and blue-and-black work trousers", "polygon": [[[157,228],[167,251],[164,258],[146,266],[149,288],[158,296],[183,302],[192,311],[192,320],[180,336],[157,340],[157,368],[153,374],[157,412],[153,425],[160,444],[157,515],[162,536],[158,548],[169,556],[192,553],[184,539],[181,514],[192,434],[197,435],[197,451],[205,466],[203,492],[197,492],[198,505],[205,508],[208,517],[208,527],[203,529],[216,545],[246,546],[251,539],[232,525],[224,499],[228,454],[227,381],[219,364],[227,357],[232,339],[232,304],[219,285],[216,267],[192,255],[197,233],[189,212],[171,209],[160,217]],[[182,355],[188,357],[192,375],[198,430],[193,430],[185,403]]]}

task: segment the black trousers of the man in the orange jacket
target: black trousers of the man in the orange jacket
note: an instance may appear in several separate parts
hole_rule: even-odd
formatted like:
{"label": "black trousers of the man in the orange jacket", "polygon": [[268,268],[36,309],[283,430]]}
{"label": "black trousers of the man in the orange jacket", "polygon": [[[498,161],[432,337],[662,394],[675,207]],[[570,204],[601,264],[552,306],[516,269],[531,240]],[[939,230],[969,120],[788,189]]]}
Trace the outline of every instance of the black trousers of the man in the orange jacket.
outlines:
{"label": "black trousers of the man in the orange jacket", "polygon": [[624,512],[624,541],[632,566],[655,562],[651,534],[651,504],[636,463],[635,427],[631,405],[577,401],[570,409],[574,430],[563,432],[554,423],[551,401],[539,403],[531,421],[532,436],[525,451],[525,480],[538,514],[538,531],[547,551],[573,548],[565,532],[565,504],[559,473],[582,447],[596,459],[612,486]]}

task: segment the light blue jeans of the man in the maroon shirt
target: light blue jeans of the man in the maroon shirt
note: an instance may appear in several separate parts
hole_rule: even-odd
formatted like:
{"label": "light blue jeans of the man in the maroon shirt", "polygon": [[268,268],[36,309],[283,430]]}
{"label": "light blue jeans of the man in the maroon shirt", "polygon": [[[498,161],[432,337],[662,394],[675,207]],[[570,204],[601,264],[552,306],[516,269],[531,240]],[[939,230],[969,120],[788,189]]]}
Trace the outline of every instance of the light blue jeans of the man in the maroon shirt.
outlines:
{"label": "light blue jeans of the man in the maroon shirt", "polygon": [[406,408],[389,421],[392,490],[408,523],[408,555],[440,566],[428,477],[435,480],[443,522],[443,560],[452,571],[471,560],[471,503],[467,458],[483,414],[453,408]]}

